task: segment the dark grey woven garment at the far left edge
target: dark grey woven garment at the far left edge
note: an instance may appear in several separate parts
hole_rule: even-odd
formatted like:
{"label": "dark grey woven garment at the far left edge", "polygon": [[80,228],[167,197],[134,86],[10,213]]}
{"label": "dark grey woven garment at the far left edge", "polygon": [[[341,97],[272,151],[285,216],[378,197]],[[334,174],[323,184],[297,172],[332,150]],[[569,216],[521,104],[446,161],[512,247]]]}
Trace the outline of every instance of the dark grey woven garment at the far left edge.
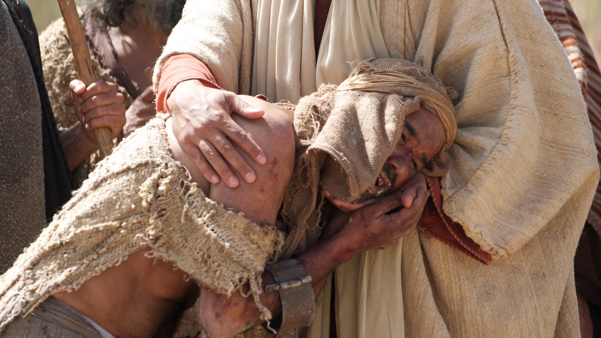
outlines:
{"label": "dark grey woven garment at the far left edge", "polygon": [[29,57],[0,2],[0,274],[46,224],[40,96]]}

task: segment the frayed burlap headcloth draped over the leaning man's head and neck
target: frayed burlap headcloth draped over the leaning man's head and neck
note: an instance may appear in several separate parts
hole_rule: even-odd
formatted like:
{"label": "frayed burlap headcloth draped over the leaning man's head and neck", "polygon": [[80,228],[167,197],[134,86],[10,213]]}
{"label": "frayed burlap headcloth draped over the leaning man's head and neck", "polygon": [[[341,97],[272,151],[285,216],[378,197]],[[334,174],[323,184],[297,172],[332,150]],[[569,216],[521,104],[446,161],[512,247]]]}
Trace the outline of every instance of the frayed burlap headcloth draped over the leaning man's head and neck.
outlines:
{"label": "frayed burlap headcloth draped over the leaning man's head and neck", "polygon": [[[447,88],[417,64],[398,59],[356,61],[353,78],[376,72],[396,73],[427,82],[441,96]],[[448,97],[448,96],[447,96]],[[372,186],[392,154],[403,132],[407,114],[420,105],[429,106],[424,96],[401,96],[365,90],[338,90],[322,85],[303,97],[294,111],[296,161],[284,194],[280,216],[288,237],[281,257],[302,252],[317,242],[323,201],[318,190],[331,192],[342,201],[353,201]],[[452,109],[452,107],[451,107]],[[451,111],[450,114],[454,114]],[[444,152],[429,163],[430,175],[442,176],[449,164]]]}

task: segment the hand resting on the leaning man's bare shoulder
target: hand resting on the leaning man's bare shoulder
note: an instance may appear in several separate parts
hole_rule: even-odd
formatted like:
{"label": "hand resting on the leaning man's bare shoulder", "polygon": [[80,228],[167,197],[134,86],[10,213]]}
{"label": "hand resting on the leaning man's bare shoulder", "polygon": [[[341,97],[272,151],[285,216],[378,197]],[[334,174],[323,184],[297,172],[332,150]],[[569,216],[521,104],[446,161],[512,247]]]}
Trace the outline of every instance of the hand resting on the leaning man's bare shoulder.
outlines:
{"label": "hand resting on the leaning man's bare shoulder", "polygon": [[227,186],[235,188],[240,182],[232,168],[246,182],[254,182],[257,177],[254,170],[230,140],[258,164],[265,164],[267,158],[255,141],[234,122],[231,113],[255,119],[263,116],[263,110],[249,106],[231,91],[205,87],[197,80],[178,84],[167,99],[167,106],[178,143],[209,182],[218,183],[221,177]]}

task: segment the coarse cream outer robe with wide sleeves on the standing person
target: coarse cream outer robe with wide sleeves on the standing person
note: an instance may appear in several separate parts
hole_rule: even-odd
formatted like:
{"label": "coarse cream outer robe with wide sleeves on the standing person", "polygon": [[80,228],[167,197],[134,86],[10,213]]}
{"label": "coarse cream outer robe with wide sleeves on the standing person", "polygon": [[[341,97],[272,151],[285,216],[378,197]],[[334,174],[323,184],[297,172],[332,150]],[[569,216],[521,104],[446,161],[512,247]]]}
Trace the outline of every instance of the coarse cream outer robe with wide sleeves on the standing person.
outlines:
{"label": "coarse cream outer robe with wide sleeves on the standing person", "polygon": [[[156,70],[188,53],[223,88],[249,93],[256,8],[257,0],[189,1]],[[339,311],[339,336],[354,325],[358,337],[398,337],[370,321],[400,316],[409,337],[579,336],[573,256],[599,168],[578,83],[537,2],[383,0],[380,28],[391,57],[422,64],[459,93],[443,206],[495,260],[482,265],[413,230],[398,263],[404,314],[377,303],[376,315]],[[364,270],[376,274],[372,266]],[[397,283],[382,281],[374,294],[398,303],[386,294]],[[312,337],[326,336],[328,311]]]}

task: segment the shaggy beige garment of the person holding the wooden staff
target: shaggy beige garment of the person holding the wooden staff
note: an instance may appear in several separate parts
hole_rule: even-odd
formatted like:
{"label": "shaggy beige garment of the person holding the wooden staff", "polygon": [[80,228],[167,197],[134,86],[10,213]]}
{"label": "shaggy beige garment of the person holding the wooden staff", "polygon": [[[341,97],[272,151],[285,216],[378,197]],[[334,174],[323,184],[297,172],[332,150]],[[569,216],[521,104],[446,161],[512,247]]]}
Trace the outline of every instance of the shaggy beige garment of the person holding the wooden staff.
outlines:
{"label": "shaggy beige garment of the person holding the wooden staff", "polygon": [[[70,128],[73,124],[78,123],[79,120],[75,115],[75,107],[71,99],[69,83],[79,77],[63,19],[56,20],[44,29],[40,34],[39,40],[44,83],[48,91],[50,105],[52,105],[56,127]],[[127,92],[126,88],[118,84],[116,78],[111,76],[109,69],[104,69],[100,65],[93,52],[90,55],[92,58],[92,68],[97,78],[113,82],[117,85],[117,91],[123,94],[125,97],[124,104],[126,108],[129,108],[133,97]],[[81,183],[87,179],[88,174],[94,170],[99,159],[99,152],[94,152],[90,155],[89,159],[73,170],[73,183],[76,187],[81,186]]]}

